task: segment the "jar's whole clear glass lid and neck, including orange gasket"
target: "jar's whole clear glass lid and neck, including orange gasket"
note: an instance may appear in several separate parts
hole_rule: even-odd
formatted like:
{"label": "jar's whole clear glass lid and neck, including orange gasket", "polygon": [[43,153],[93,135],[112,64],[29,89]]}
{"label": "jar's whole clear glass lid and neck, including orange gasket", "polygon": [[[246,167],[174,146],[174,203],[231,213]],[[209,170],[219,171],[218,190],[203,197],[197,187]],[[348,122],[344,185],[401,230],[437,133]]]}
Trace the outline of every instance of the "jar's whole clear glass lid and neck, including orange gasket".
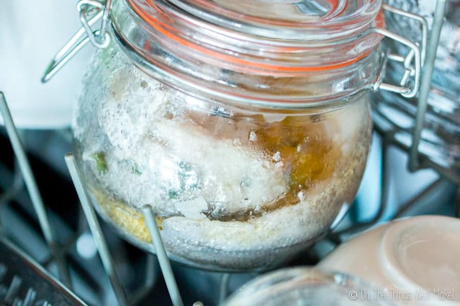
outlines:
{"label": "jar's whole clear glass lid and neck, including orange gasket", "polygon": [[375,87],[381,0],[305,2],[305,18],[280,9],[300,1],[247,3],[246,10],[223,0],[116,1],[114,38],[143,71],[200,98],[311,107]]}

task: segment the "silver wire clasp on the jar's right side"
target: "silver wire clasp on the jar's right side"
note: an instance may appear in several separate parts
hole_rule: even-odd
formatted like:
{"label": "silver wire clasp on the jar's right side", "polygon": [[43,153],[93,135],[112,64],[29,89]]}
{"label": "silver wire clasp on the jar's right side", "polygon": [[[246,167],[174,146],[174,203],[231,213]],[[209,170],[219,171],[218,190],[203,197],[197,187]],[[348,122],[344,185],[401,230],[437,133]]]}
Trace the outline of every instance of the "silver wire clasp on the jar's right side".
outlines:
{"label": "silver wire clasp on the jar's right side", "polygon": [[[370,33],[377,33],[393,39],[399,43],[402,43],[410,48],[409,53],[406,56],[401,56],[398,54],[386,54],[386,60],[400,62],[404,65],[404,74],[401,77],[399,85],[381,83],[382,75],[379,76],[376,83],[376,89],[383,89],[387,91],[392,91],[401,94],[403,97],[412,98],[415,97],[420,88],[420,78],[422,74],[422,63],[425,61],[426,53],[426,44],[428,40],[428,22],[425,18],[420,15],[409,13],[392,6],[384,4],[382,8],[385,11],[391,12],[393,14],[398,14],[403,17],[411,18],[421,23],[422,27],[422,41],[421,49],[419,49],[419,44],[415,43],[407,38],[399,36],[393,32],[390,32],[386,29],[381,28],[372,28],[369,29]],[[414,63],[412,65],[412,62]],[[382,69],[381,74],[383,74],[384,69]],[[408,86],[409,78],[413,77],[413,84]]]}

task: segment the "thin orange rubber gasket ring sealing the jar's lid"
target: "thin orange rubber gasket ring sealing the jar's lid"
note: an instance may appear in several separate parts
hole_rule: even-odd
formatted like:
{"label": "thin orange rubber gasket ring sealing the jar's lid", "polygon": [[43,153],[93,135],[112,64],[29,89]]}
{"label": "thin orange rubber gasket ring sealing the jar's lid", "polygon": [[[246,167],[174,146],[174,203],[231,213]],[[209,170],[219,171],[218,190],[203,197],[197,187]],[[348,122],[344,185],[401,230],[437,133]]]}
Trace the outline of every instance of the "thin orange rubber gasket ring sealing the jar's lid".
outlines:
{"label": "thin orange rubber gasket ring sealing the jar's lid", "polygon": [[[262,68],[262,69],[267,69],[267,70],[275,70],[275,71],[284,71],[284,72],[317,72],[317,71],[326,71],[326,70],[333,70],[333,69],[338,69],[342,67],[349,66],[353,63],[356,63],[357,61],[363,59],[367,55],[371,53],[371,51],[365,52],[364,54],[350,60],[347,62],[339,63],[339,64],[334,64],[334,65],[327,65],[327,66],[317,66],[317,67],[312,67],[312,66],[297,66],[297,67],[292,67],[292,66],[283,66],[283,65],[271,65],[271,64],[264,64],[264,63],[254,63],[248,60],[240,59],[235,56],[231,55],[226,55],[222,54],[219,52],[216,52],[214,50],[202,47],[198,44],[195,44],[193,42],[190,42],[186,39],[183,39],[179,37],[178,35],[175,35],[173,32],[176,32],[174,28],[172,28],[170,25],[165,24],[158,19],[153,18],[151,15],[149,15],[145,10],[137,6],[136,4],[133,3],[133,0],[128,0],[129,4],[131,5],[132,9],[142,18],[144,19],[147,23],[149,23],[155,30],[157,30],[159,33],[162,33],[166,37],[170,38],[171,40],[189,47],[193,50],[196,50],[197,52],[208,55],[212,58],[216,58],[225,62],[230,62],[234,64],[239,64],[243,66],[249,66],[249,67],[257,67],[257,68]],[[159,11],[158,8],[156,8],[154,5],[150,5],[150,7],[154,10],[156,10],[159,14],[164,15],[163,12]],[[382,12],[380,12],[382,13]],[[380,13],[377,16],[377,20],[381,18]],[[380,21],[380,20],[379,20]],[[166,29],[170,29],[171,32],[167,31]],[[284,50],[289,51],[289,50],[296,50],[298,48],[284,48]]]}

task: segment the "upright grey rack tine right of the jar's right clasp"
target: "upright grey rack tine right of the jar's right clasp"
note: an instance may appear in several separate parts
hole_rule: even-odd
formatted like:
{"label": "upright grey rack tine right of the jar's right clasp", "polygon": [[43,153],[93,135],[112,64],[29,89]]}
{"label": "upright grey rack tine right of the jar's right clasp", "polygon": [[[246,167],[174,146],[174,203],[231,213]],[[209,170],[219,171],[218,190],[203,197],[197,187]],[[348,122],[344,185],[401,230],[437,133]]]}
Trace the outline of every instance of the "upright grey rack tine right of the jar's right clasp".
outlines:
{"label": "upright grey rack tine right of the jar's right clasp", "polygon": [[430,41],[428,43],[425,66],[422,72],[416,125],[415,129],[413,130],[412,146],[410,147],[409,152],[408,168],[410,171],[416,171],[419,166],[419,143],[422,136],[423,124],[425,121],[428,94],[431,89],[431,78],[434,70],[434,61],[436,60],[436,51],[438,50],[446,5],[446,0],[437,0],[436,7],[434,9],[434,19],[433,25],[431,27]]}

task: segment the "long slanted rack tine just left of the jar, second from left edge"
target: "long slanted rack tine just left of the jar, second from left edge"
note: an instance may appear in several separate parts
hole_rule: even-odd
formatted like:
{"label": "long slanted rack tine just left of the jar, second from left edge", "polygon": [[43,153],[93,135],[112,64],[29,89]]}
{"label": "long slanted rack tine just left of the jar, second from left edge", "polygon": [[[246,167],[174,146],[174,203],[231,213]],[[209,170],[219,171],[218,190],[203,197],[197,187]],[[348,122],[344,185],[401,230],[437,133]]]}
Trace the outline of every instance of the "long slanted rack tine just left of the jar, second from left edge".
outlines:
{"label": "long slanted rack tine just left of the jar, second from left edge", "polygon": [[81,206],[85,213],[86,220],[88,221],[89,229],[93,234],[93,239],[96,242],[96,246],[98,248],[102,264],[104,265],[105,272],[109,276],[113,292],[117,296],[120,305],[127,306],[128,302],[125,291],[123,290],[120,278],[118,277],[117,271],[115,270],[113,259],[110,255],[107,242],[105,241],[104,234],[102,233],[101,226],[99,224],[98,218],[96,217],[94,208],[89,203],[89,197],[86,193],[86,190],[83,187],[80,171],[78,170],[75,157],[72,153],[68,153],[65,155],[65,163],[67,164],[68,171],[70,172],[72,181],[75,185],[75,189],[77,190]]}

